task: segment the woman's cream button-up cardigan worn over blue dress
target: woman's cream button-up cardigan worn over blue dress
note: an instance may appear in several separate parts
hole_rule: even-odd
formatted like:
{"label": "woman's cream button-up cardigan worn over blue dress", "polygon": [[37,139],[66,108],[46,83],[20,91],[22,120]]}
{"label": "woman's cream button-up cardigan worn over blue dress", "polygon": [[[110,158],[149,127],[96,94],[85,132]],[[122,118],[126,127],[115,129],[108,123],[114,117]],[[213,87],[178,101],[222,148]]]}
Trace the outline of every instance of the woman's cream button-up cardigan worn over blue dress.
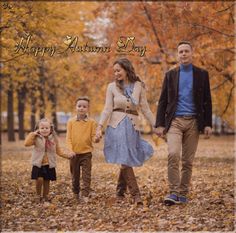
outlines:
{"label": "woman's cream button-up cardigan worn over blue dress", "polygon": [[128,116],[134,128],[136,130],[140,130],[139,117],[133,114],[128,114],[126,112],[113,111],[113,109],[120,108],[124,110],[141,110],[143,115],[153,126],[154,116],[147,103],[146,91],[141,82],[135,82],[132,96],[135,99],[136,103],[138,103],[137,106],[133,105],[131,101],[122,94],[121,90],[116,86],[115,82],[110,83],[107,87],[106,103],[101,114],[99,124],[104,125],[109,119],[108,125],[116,128],[117,125],[125,118],[125,116]]}

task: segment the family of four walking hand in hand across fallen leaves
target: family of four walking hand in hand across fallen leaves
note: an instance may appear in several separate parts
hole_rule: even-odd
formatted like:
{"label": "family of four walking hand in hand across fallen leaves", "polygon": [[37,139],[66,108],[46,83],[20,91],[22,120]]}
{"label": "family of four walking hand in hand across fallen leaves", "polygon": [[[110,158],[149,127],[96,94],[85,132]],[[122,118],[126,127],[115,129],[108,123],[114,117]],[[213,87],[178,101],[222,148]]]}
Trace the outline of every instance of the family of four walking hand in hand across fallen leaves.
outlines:
{"label": "family of four walking hand in hand across fallen leaves", "polygon": [[61,149],[51,122],[41,119],[35,132],[25,140],[25,146],[34,146],[31,178],[36,180],[38,199],[48,200],[49,182],[56,180],[58,154],[70,160],[75,198],[88,200],[93,143],[100,141],[103,127],[107,124],[104,156],[106,162],[120,165],[116,197],[121,200],[129,193],[133,203],[142,205],[133,167],[142,166],[154,151],[140,134],[138,116],[141,111],[152,131],[167,138],[169,194],[164,204],[187,203],[199,133],[209,137],[212,128],[208,72],[192,64],[192,55],[193,48],[189,42],[178,44],[180,65],[165,74],[156,117],[149,108],[144,82],[136,75],[132,63],[120,58],[113,64],[114,81],[107,86],[105,106],[98,125],[88,116],[89,98],[76,100],[77,115],[67,123],[67,152]]}

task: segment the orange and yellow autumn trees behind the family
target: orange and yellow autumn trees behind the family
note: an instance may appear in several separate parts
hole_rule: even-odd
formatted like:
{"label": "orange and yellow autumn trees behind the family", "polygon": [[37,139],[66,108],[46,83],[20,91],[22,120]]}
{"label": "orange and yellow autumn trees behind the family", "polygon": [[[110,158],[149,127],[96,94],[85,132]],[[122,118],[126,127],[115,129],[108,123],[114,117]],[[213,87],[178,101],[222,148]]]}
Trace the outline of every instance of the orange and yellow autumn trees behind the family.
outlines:
{"label": "orange and yellow autumn trees behind the family", "polygon": [[[91,112],[100,112],[119,56],[133,61],[155,111],[164,73],[177,65],[176,44],[183,39],[193,44],[195,64],[210,71],[214,113],[233,125],[234,6],[223,1],[1,3],[0,109],[7,111],[8,139],[15,140],[14,112],[20,139],[26,116],[31,130],[44,116],[57,128],[56,111],[73,111],[78,95],[89,95]],[[110,51],[58,54],[75,36],[78,45],[111,46]],[[135,37],[124,45],[126,53],[117,50],[125,41],[118,41],[121,37]],[[136,45],[146,46],[144,56],[129,52]]]}

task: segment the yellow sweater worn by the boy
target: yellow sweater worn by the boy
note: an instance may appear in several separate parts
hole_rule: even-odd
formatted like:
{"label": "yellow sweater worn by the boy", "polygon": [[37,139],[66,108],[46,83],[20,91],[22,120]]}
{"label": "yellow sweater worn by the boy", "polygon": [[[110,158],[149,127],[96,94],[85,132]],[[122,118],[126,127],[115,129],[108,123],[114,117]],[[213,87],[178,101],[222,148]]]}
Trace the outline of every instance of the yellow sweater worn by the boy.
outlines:
{"label": "yellow sweater worn by the boy", "polygon": [[93,151],[97,123],[91,118],[77,120],[71,118],[67,122],[66,144],[76,154],[84,154]]}

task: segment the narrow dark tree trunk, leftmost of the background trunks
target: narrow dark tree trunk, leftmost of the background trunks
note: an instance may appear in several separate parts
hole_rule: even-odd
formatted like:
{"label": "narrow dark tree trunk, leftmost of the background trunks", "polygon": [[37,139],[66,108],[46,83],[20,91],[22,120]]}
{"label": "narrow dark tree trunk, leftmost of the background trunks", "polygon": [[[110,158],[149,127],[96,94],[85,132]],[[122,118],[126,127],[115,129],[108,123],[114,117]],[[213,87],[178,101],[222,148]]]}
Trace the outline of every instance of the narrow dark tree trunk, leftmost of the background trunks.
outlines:
{"label": "narrow dark tree trunk, leftmost of the background trunks", "polygon": [[13,84],[10,78],[10,85],[7,91],[7,134],[8,141],[15,141],[14,133],[14,108],[13,108]]}

